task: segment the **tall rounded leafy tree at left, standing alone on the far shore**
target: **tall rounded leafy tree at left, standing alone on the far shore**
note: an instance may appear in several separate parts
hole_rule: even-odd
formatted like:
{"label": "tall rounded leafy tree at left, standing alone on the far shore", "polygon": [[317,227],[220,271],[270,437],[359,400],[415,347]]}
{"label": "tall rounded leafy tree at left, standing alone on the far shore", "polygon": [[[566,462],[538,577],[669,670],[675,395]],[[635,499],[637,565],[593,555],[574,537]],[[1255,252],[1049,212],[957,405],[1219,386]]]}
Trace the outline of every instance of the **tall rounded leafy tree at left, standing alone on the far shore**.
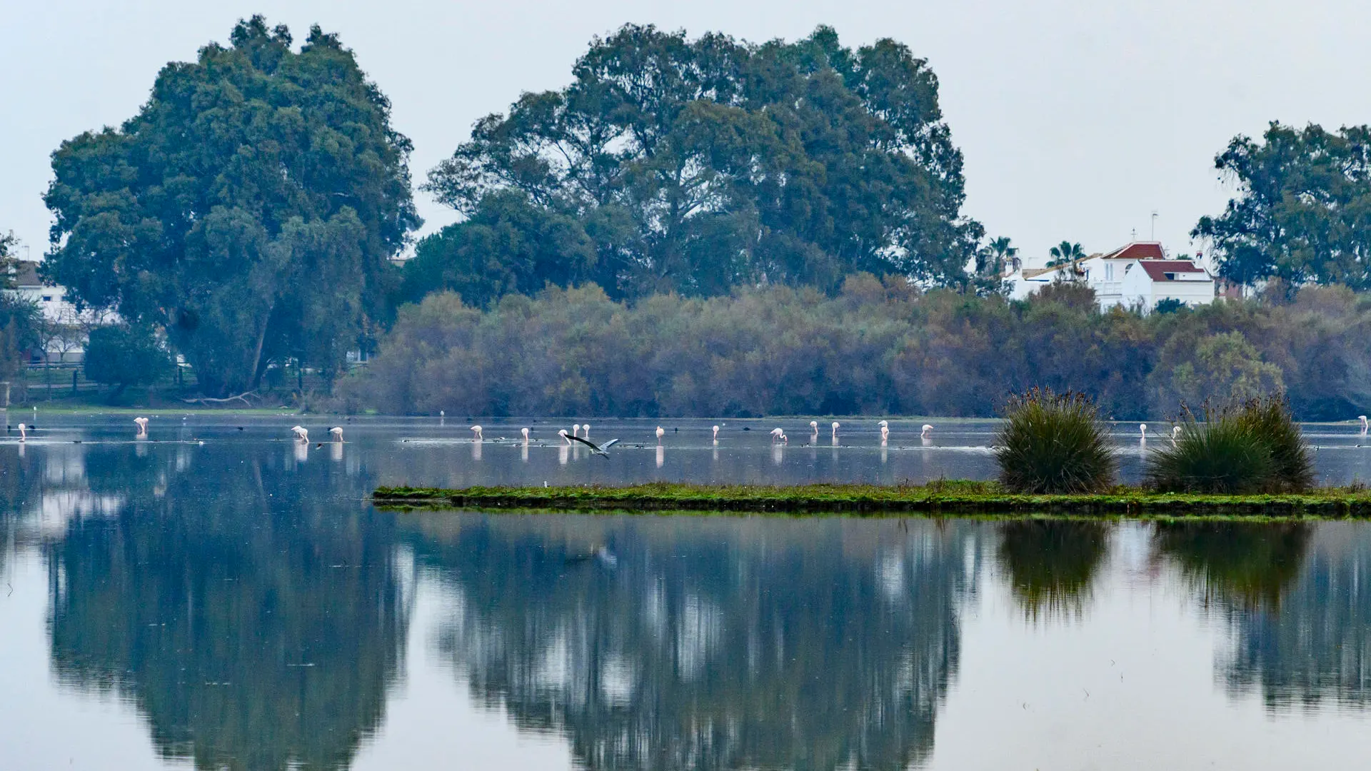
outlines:
{"label": "tall rounded leafy tree at left, standing alone on the far shore", "polygon": [[64,141],[45,198],[48,274],[165,328],[217,395],[273,358],[336,372],[420,224],[410,141],[336,36],[315,26],[296,52],[254,16],[230,41],[163,67],[121,128]]}

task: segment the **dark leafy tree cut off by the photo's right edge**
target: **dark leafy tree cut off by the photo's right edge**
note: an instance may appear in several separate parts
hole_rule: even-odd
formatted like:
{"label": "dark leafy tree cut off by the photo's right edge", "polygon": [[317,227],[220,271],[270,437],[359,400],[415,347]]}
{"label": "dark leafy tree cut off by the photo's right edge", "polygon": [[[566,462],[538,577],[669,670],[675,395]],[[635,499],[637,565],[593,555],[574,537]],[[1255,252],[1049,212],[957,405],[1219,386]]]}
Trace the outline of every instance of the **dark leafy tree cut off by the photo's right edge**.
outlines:
{"label": "dark leafy tree cut off by the photo's right edge", "polygon": [[1212,241],[1224,277],[1371,288],[1371,128],[1272,122],[1261,141],[1235,137],[1215,166],[1238,195],[1191,236]]}

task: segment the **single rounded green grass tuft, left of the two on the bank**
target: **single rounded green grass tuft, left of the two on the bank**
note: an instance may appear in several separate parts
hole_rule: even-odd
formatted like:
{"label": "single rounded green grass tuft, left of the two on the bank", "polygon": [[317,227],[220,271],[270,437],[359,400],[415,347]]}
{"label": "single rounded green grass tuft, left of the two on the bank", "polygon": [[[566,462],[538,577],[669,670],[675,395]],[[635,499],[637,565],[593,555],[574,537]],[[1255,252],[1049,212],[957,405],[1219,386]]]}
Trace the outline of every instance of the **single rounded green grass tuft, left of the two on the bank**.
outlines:
{"label": "single rounded green grass tuft, left of the two on the bank", "polygon": [[1094,493],[1113,484],[1119,457],[1084,394],[1034,388],[1010,396],[995,438],[999,482],[1012,493]]}

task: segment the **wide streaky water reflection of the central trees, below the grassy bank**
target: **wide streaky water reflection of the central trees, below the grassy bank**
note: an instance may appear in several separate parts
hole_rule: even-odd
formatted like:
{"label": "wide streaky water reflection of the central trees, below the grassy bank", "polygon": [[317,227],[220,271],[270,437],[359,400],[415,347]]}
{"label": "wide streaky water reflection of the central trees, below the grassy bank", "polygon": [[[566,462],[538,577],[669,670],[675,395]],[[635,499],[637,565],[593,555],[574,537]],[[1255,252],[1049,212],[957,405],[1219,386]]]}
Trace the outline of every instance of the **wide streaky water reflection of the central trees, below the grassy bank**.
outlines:
{"label": "wide streaky water reflection of the central trees, below the grassy bank", "polygon": [[441,654],[592,768],[902,768],[932,749],[976,523],[415,517]]}

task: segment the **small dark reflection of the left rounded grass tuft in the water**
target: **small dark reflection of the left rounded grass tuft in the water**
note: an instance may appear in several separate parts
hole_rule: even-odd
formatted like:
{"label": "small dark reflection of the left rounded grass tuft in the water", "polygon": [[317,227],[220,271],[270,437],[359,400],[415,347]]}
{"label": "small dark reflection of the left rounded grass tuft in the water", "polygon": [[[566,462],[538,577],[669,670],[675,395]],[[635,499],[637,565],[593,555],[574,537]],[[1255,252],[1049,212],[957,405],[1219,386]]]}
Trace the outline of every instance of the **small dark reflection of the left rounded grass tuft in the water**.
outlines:
{"label": "small dark reflection of the left rounded grass tuft in the water", "polygon": [[1084,612],[1109,549],[1109,525],[1086,520],[1012,520],[999,525],[999,565],[1030,620]]}

